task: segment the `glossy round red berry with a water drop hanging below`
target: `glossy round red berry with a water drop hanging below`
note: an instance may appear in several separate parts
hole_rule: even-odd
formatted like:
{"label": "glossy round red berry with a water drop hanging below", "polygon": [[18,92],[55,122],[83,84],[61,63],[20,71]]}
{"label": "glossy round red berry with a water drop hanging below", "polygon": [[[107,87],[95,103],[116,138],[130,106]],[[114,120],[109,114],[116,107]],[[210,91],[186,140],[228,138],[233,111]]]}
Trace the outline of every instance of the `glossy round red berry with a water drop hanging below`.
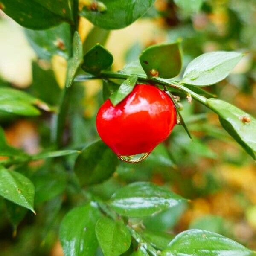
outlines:
{"label": "glossy round red berry with a water drop hanging below", "polygon": [[102,140],[118,155],[151,152],[170,135],[177,121],[175,105],[162,90],[137,84],[118,105],[108,99],[96,126]]}

